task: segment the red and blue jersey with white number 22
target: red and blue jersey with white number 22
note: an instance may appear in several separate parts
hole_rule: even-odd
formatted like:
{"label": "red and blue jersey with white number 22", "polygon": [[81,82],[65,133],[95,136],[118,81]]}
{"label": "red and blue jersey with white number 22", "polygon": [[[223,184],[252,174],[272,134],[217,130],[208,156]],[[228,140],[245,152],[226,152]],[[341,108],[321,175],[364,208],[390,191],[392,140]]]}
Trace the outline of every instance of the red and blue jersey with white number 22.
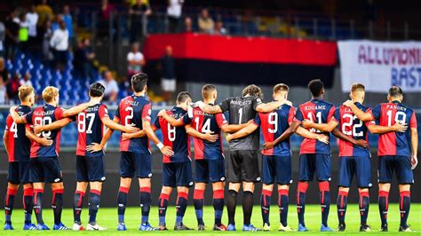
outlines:
{"label": "red and blue jersey with white number 22", "polygon": [[[369,107],[362,106],[356,102],[355,106],[366,112]],[[345,135],[358,140],[368,141],[368,129],[372,122],[361,122],[357,116],[353,114],[353,110],[348,106],[339,106],[335,111],[335,119],[338,121],[338,129]],[[368,147],[353,146],[348,141],[339,138],[339,156],[371,156]]]}

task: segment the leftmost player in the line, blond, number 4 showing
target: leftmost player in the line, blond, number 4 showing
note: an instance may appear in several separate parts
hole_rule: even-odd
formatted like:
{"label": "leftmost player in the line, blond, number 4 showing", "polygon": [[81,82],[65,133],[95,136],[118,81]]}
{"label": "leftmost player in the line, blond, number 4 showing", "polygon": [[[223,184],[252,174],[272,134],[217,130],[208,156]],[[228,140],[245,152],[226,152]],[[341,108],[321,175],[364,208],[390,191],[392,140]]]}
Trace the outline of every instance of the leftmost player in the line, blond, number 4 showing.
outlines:
{"label": "leftmost player in the line, blond, number 4 showing", "polygon": [[[28,114],[31,106],[35,103],[35,93],[32,86],[20,86],[20,106],[17,107],[19,115]],[[41,138],[40,138],[41,139]],[[29,182],[30,169],[30,147],[31,141],[25,135],[25,124],[16,124],[12,116],[6,118],[6,129],[4,130],[4,148],[9,159],[9,171],[7,174],[7,193],[4,198],[5,224],[4,230],[13,230],[12,210],[13,202],[20,185],[23,185],[23,209],[25,211],[24,230],[35,230],[36,225],[32,224],[32,184]],[[51,145],[52,142],[44,138],[44,145]]]}

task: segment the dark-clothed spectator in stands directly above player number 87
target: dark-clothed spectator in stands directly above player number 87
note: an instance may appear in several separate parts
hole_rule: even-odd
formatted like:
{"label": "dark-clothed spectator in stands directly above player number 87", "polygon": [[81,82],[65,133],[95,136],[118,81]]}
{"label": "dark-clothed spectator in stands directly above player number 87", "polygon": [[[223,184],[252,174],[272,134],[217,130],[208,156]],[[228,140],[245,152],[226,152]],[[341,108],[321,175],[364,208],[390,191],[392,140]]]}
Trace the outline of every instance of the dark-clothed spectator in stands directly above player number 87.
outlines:
{"label": "dark-clothed spectator in stands directly above player number 87", "polygon": [[83,80],[93,79],[94,59],[95,53],[91,48],[91,40],[83,38],[75,51],[75,60],[73,62],[76,74],[82,77]]}

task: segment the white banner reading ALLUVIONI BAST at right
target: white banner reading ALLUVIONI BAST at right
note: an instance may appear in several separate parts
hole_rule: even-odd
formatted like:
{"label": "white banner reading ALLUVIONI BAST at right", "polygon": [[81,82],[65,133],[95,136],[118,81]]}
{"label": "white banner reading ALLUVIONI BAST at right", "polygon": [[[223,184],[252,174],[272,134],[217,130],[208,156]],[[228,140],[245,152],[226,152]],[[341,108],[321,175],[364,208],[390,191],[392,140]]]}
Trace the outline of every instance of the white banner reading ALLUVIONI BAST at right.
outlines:
{"label": "white banner reading ALLUVIONI BAST at right", "polygon": [[339,41],[342,91],[362,83],[367,91],[421,91],[421,42]]}

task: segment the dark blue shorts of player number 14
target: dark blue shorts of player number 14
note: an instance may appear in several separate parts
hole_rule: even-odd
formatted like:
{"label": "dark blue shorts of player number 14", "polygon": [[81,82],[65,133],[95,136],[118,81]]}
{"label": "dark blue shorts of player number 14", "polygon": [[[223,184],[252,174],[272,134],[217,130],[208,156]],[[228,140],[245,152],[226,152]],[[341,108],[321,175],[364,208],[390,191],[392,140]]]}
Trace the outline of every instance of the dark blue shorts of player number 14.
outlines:
{"label": "dark blue shorts of player number 14", "polygon": [[225,181],[224,159],[203,159],[195,161],[195,183],[216,183]]}

